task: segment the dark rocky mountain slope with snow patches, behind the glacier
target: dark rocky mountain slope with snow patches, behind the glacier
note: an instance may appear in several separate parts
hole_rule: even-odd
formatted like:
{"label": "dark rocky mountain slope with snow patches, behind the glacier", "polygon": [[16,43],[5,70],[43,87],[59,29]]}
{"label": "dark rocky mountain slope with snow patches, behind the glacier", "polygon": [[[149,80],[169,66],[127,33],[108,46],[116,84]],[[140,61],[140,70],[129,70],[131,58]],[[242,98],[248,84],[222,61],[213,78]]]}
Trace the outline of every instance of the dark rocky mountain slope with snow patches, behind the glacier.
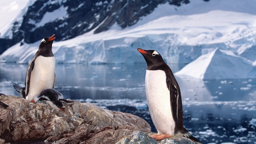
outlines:
{"label": "dark rocky mountain slope with snow patches, behind the glacier", "polygon": [[163,3],[179,6],[189,1],[30,0],[12,25],[1,30],[0,49],[8,48],[3,42],[7,46],[21,41],[31,44],[51,33],[58,35],[56,41],[63,41],[92,30],[94,33],[107,31],[115,23],[126,28]]}

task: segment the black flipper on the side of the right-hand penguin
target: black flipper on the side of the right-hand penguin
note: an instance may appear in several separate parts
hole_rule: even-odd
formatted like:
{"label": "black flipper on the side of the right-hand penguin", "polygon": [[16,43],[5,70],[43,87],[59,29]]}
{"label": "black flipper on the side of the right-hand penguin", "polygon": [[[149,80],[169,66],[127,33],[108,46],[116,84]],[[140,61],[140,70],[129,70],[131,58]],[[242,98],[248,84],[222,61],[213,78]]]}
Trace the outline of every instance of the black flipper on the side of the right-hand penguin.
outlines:
{"label": "black flipper on the side of the right-hand penguin", "polygon": [[168,82],[169,90],[170,90],[170,101],[171,101],[171,111],[172,111],[172,118],[176,125],[178,125],[178,98],[179,93],[176,87]]}

